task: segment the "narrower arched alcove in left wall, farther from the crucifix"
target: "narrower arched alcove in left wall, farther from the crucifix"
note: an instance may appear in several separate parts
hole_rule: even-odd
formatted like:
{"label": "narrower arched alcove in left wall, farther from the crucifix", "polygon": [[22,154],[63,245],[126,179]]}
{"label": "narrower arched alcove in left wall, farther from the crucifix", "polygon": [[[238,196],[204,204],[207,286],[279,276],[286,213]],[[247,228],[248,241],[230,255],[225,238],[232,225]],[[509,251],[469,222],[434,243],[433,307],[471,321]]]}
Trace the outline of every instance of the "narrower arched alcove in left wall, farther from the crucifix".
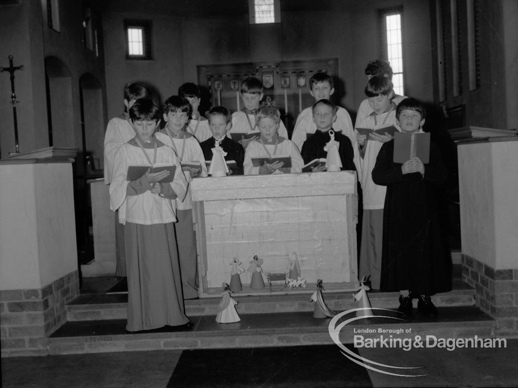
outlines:
{"label": "narrower arched alcove in left wall, farther from the crucifix", "polygon": [[[95,175],[102,170],[104,154],[103,85],[92,74],[79,78],[82,151],[89,162],[85,175]],[[100,172],[102,174],[102,172]]]}

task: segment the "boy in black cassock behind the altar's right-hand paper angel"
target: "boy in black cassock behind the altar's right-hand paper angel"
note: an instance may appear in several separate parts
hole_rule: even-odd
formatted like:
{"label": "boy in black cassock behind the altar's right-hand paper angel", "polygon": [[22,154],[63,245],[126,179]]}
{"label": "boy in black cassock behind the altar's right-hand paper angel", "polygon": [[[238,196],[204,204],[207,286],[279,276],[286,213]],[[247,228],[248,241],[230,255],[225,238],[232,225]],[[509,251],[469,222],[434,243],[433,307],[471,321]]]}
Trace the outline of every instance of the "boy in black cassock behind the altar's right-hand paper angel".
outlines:
{"label": "boy in black cassock behind the altar's right-hand paper angel", "polygon": [[[316,131],[303,144],[300,154],[307,164],[313,159],[325,159],[327,151],[324,150],[325,145],[331,139],[329,131],[333,129],[333,123],[336,121],[336,106],[328,99],[318,100],[312,107],[313,121],[316,124]],[[353,162],[354,150],[351,140],[340,132],[335,132],[335,140],[340,143],[338,153],[342,162],[342,170],[356,171]],[[313,173],[325,171],[326,167],[316,166],[312,168]]]}

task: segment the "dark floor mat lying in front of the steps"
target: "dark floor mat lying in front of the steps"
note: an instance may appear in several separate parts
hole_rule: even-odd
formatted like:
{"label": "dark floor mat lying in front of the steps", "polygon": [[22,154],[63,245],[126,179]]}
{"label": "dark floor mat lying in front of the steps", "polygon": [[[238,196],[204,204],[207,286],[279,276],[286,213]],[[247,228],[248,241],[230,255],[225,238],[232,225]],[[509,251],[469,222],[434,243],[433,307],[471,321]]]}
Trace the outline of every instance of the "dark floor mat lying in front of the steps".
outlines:
{"label": "dark floor mat lying in front of the steps", "polygon": [[[346,345],[357,351],[352,345]],[[367,369],[336,345],[182,352],[168,387],[371,387]]]}

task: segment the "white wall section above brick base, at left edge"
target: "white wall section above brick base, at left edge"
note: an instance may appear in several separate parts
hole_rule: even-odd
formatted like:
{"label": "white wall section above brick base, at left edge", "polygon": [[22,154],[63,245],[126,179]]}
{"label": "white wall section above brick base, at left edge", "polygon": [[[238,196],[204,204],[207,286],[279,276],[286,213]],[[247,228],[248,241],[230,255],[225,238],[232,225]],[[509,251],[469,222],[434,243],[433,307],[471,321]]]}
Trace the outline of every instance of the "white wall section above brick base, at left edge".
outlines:
{"label": "white wall section above brick base, at left edge", "polygon": [[1,289],[39,289],[77,270],[71,164],[0,164],[0,181]]}

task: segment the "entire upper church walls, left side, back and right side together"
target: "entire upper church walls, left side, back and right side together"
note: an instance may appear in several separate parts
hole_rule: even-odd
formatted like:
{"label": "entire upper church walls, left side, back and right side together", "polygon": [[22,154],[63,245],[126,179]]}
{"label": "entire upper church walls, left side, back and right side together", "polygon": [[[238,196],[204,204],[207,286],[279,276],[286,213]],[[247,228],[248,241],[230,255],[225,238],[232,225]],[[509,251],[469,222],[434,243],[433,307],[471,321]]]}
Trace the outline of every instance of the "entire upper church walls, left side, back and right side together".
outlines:
{"label": "entire upper church walls, left side, back and right side together", "polygon": [[[47,147],[48,123],[45,97],[45,58],[55,56],[70,71],[70,107],[72,130],[66,137],[67,146],[81,147],[80,125],[80,77],[92,74],[101,84],[102,111],[99,116],[105,127],[109,118],[122,111],[122,88],[128,81],[147,81],[161,102],[185,81],[196,81],[199,64],[241,63],[268,60],[268,50],[257,51],[257,42],[251,34],[248,15],[210,15],[180,17],[159,15],[152,12],[127,13],[110,11],[102,15],[103,28],[99,31],[99,56],[84,47],[82,3],[60,2],[60,32],[51,30],[46,23],[42,4],[46,2],[20,0],[2,5],[0,34],[2,50],[0,61],[7,65],[7,55],[15,56],[15,66],[24,65],[17,71],[16,95],[19,103],[18,127],[20,152]],[[465,7],[466,2],[457,2]],[[444,108],[466,105],[466,124],[498,128],[514,128],[518,120],[518,87],[516,72],[517,46],[513,32],[518,5],[512,0],[492,2],[480,0],[480,88],[469,91],[467,87],[467,52],[461,50],[461,73],[464,91],[453,96],[451,69],[445,71],[447,98],[440,102]],[[336,102],[354,115],[364,98],[364,68],[368,61],[379,56],[378,12],[380,8],[395,5],[404,7],[404,50],[406,94],[425,102],[434,101],[434,74],[436,61],[435,38],[430,33],[430,9],[435,1],[415,2],[410,0],[372,0],[354,5],[348,10],[286,10],[283,11],[281,28],[272,33],[280,34],[275,52],[279,60],[339,58],[338,77],[343,82]],[[445,54],[451,52],[448,35],[450,28],[448,7],[442,1],[444,13]],[[153,60],[128,61],[125,59],[125,18],[149,18],[153,28]],[[463,19],[459,19],[464,25]],[[266,27],[268,28],[268,27]],[[104,37],[104,38],[103,38]],[[276,43],[278,45],[278,43]],[[464,47],[464,46],[463,46]],[[109,53],[104,56],[104,52]],[[270,53],[271,54],[271,53]],[[448,56],[446,62],[448,62]],[[0,77],[4,99],[9,98],[8,75]],[[68,98],[68,97],[67,97]],[[14,151],[12,106],[0,105],[0,113],[6,118],[2,128],[0,151],[2,158]],[[100,130],[97,128],[97,131]],[[90,147],[90,146],[89,146]],[[99,143],[94,146],[99,148]],[[95,150],[96,157],[102,150]],[[99,159],[99,158],[98,158]]]}

